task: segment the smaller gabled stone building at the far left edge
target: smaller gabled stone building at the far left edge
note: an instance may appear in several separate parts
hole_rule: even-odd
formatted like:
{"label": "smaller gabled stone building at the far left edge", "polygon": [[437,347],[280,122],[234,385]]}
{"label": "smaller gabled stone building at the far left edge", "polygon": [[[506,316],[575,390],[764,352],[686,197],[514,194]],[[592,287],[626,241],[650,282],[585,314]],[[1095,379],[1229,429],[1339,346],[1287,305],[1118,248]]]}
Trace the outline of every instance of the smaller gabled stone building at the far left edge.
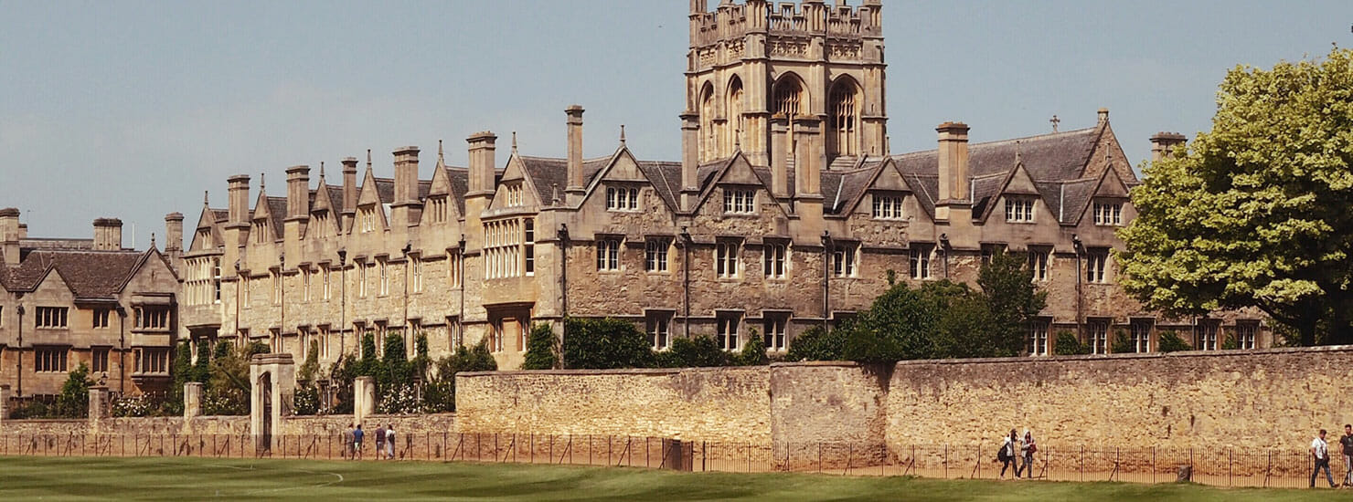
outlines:
{"label": "smaller gabled stone building at the far left edge", "polygon": [[93,239],[27,233],[19,209],[0,209],[0,385],[54,395],[85,363],[112,391],[165,390],[180,287],[169,258],[123,248],[116,219],[95,220]]}

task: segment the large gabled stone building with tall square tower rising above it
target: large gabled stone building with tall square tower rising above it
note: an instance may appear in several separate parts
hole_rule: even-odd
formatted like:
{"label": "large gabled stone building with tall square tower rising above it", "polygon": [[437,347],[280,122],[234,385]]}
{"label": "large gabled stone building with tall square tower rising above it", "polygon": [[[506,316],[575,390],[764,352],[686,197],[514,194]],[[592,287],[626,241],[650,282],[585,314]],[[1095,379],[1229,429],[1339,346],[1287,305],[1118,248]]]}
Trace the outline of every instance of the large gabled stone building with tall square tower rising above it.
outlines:
{"label": "large gabled stone building with tall square tower rising above it", "polygon": [[[369,150],[360,175],[342,159],[336,184],[322,165],[317,182],[287,169],[277,197],[262,175],[257,190],[231,177],[183,254],[183,333],[298,358],[314,341],[322,362],[364,332],[426,333],[433,355],[486,339],[510,368],[530,323],[610,316],[658,348],[708,333],[733,350],[755,332],[779,352],[866,308],[890,274],[973,281],[1004,250],[1027,254],[1049,291],[1032,355],[1062,329],[1099,352],[1119,331],[1151,351],[1166,328],[1204,348],[1272,343],[1257,314],[1165,320],[1116,285],[1109,251],[1139,181],[1108,111],[973,144],[944,123],[935,150],[896,155],[878,0],[704,4],[691,0],[681,162],[643,159],[624,130],[610,155],[583,158],[575,105],[564,158],[514,138],[501,161],[498,136],[478,132],[468,166],[438,144],[428,178],[418,147],[392,152],[390,178]],[[1164,155],[1183,136],[1151,142]]]}

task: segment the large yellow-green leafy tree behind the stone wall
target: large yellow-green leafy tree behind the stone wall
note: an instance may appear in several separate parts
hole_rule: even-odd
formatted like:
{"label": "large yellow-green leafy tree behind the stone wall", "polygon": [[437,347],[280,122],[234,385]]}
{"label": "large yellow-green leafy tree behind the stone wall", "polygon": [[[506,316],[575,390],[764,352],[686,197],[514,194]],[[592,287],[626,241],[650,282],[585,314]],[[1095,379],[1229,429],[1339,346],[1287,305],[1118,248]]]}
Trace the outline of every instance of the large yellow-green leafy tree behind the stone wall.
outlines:
{"label": "large yellow-green leafy tree behind the stone wall", "polygon": [[1353,51],[1239,66],[1212,130],[1143,169],[1123,286],[1174,314],[1257,306],[1300,344],[1353,341]]}

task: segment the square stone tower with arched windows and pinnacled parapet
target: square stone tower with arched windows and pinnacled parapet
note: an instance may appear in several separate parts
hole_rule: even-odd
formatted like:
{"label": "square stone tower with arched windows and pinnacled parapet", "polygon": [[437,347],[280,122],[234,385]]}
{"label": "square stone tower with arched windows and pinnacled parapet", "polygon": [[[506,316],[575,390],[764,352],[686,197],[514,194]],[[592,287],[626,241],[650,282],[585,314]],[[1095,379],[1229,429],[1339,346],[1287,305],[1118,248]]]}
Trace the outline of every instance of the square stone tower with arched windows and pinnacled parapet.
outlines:
{"label": "square stone tower with arched windows and pinnacled parapet", "polygon": [[827,169],[884,155],[881,0],[706,4],[690,0],[682,162],[741,150],[766,167],[778,152],[794,158],[800,140],[819,143]]}

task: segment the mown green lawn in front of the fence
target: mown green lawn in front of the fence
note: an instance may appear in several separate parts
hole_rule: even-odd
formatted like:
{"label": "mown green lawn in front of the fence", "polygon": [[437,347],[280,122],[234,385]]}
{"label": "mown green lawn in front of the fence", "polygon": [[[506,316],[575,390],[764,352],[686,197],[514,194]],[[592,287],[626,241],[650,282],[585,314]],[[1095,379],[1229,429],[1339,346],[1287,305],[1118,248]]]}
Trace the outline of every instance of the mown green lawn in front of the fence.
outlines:
{"label": "mown green lawn in front of the fence", "polygon": [[[1344,497],[1337,497],[1344,495]],[[637,468],[238,459],[0,457],[0,501],[1329,501],[1353,490],[682,474]]]}

